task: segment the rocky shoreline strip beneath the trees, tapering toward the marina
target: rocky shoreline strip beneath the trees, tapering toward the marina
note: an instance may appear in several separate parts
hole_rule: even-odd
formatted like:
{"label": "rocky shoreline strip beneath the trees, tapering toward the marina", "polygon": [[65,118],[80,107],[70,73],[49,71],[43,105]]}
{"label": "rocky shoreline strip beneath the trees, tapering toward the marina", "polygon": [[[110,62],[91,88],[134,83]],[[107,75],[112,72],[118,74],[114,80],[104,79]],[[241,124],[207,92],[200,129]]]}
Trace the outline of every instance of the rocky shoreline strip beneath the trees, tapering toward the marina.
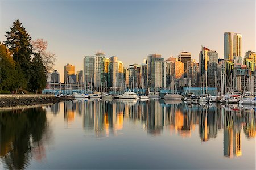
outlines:
{"label": "rocky shoreline strip beneath the trees, tapering toward the marina", "polygon": [[8,97],[4,97],[0,95],[0,108],[3,107],[15,107],[22,105],[38,105],[38,104],[50,104],[50,103],[59,103],[60,101],[73,100],[73,98],[67,97],[55,97],[52,95],[10,95]]}

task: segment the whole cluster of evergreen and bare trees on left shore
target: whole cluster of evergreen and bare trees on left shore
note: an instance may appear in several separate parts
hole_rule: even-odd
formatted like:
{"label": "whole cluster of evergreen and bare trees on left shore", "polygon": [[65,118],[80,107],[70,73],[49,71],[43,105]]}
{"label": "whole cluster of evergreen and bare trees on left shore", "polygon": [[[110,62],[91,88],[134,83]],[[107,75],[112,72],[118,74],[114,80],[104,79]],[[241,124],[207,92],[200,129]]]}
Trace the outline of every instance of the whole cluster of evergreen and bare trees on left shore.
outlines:
{"label": "whole cluster of evergreen and bare trees on left shore", "polygon": [[0,90],[42,91],[56,54],[46,52],[47,41],[31,41],[19,20],[13,22],[5,37],[6,41],[0,44]]}

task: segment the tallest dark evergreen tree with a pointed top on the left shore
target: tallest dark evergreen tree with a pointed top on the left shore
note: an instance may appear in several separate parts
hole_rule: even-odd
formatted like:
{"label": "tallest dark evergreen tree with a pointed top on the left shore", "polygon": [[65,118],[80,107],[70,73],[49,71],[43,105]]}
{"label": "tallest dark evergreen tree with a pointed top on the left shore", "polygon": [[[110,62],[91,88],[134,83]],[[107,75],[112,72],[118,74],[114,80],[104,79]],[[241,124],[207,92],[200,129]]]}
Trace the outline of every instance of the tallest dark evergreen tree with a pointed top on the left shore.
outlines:
{"label": "tallest dark evergreen tree with a pointed top on the left shore", "polygon": [[6,41],[3,43],[10,49],[10,52],[13,53],[13,59],[16,62],[16,66],[20,66],[28,82],[31,76],[31,37],[19,20],[13,22],[13,26],[10,29],[11,31],[6,31]]}

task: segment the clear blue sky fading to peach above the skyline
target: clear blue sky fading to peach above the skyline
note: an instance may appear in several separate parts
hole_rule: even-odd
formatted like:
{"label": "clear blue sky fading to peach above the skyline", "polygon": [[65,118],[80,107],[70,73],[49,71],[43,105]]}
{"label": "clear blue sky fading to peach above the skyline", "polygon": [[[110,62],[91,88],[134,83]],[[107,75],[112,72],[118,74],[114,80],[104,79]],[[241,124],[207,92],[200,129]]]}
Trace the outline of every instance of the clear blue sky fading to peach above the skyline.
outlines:
{"label": "clear blue sky fading to peach above the skyline", "polygon": [[0,41],[19,19],[32,40],[48,41],[54,69],[82,70],[84,56],[104,52],[127,67],[148,54],[167,59],[181,51],[199,60],[201,46],[224,55],[224,32],[242,34],[242,54],[255,51],[255,1],[232,0],[0,0]]}

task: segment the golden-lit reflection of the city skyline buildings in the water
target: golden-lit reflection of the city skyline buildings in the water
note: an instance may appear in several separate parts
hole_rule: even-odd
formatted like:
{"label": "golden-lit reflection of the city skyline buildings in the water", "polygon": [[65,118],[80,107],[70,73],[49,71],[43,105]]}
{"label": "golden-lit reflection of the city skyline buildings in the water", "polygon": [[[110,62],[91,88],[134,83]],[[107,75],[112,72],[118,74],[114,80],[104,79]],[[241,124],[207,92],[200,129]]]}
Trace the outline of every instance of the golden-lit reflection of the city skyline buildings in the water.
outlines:
{"label": "golden-lit reflection of the city skyline buildings in the water", "polygon": [[92,100],[84,103],[84,129],[96,137],[117,135],[125,121],[143,126],[148,135],[161,135],[164,129],[170,134],[191,137],[198,126],[202,142],[214,139],[218,131],[224,135],[223,154],[233,158],[242,155],[241,131],[254,138],[255,111],[231,106],[188,107],[183,103],[171,104],[164,100]]}

